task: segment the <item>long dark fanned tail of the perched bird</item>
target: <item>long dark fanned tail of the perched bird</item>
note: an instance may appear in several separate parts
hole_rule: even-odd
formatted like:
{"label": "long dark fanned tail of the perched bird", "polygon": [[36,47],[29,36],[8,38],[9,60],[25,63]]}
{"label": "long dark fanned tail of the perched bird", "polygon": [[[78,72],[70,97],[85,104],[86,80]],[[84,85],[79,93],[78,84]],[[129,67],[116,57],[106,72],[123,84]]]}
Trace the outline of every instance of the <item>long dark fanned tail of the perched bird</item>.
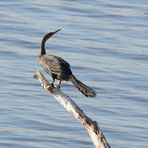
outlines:
{"label": "long dark fanned tail of the perched bird", "polygon": [[79,81],[74,75],[71,75],[70,81],[86,96],[86,97],[95,97],[96,93],[95,91],[83,84],[81,81]]}

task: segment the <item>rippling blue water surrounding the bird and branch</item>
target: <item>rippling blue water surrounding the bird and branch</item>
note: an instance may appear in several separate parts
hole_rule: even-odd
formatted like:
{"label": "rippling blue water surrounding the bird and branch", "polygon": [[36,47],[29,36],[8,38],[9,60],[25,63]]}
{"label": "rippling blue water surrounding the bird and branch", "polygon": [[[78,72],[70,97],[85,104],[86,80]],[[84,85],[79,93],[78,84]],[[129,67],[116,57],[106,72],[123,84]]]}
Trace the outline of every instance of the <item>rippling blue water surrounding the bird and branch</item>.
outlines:
{"label": "rippling blue water surrounding the bird and branch", "polygon": [[32,78],[44,73],[41,38],[59,28],[48,52],[66,59],[97,97],[87,99],[67,83],[62,90],[98,122],[112,147],[147,148],[146,12],[146,0],[0,0],[0,148],[93,147]]}

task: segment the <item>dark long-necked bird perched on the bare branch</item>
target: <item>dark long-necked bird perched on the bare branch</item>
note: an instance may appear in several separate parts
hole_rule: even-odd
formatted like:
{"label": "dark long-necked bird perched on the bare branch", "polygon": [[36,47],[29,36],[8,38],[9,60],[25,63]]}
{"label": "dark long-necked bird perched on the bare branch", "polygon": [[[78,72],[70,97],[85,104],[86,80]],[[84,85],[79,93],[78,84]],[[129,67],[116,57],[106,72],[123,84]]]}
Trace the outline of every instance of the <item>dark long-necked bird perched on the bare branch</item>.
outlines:
{"label": "dark long-necked bird perched on the bare branch", "polygon": [[72,73],[70,64],[59,56],[47,54],[45,49],[46,41],[52,37],[55,33],[59,32],[58,29],[54,32],[48,32],[41,40],[41,50],[39,54],[39,63],[44,70],[52,77],[53,81],[51,85],[53,87],[55,80],[58,80],[58,86],[60,88],[61,81],[71,81],[73,85],[86,97],[95,97],[96,92],[78,80]]}

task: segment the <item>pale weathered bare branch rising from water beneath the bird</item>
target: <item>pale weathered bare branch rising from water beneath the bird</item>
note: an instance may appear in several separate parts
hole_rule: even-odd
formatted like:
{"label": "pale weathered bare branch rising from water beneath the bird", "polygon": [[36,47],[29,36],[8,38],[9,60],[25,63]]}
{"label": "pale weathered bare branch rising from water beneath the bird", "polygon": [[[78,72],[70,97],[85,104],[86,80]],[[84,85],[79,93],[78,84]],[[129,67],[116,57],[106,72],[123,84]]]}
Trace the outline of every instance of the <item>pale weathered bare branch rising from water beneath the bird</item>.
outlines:
{"label": "pale weathered bare branch rising from water beneath the bird", "polygon": [[56,99],[75,119],[77,119],[87,129],[96,148],[110,148],[97,122],[90,119],[69,96],[64,94],[60,88],[52,87],[39,71],[35,72],[34,78],[39,80],[41,86],[43,86],[43,89],[48,93],[48,95]]}

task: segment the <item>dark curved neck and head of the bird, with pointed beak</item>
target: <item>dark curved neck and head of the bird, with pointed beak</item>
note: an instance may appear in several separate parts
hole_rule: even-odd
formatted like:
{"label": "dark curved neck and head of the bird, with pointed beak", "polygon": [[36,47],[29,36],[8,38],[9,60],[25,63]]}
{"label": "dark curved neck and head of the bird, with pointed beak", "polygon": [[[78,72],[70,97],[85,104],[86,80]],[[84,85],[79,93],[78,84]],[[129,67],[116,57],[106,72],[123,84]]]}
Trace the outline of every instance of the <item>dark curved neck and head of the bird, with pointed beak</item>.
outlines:
{"label": "dark curved neck and head of the bird, with pointed beak", "polygon": [[40,52],[40,56],[46,54],[46,49],[45,49],[45,43],[46,43],[46,41],[47,41],[50,37],[52,37],[52,35],[54,35],[56,32],[58,32],[58,31],[60,31],[60,30],[61,30],[61,29],[59,29],[59,30],[57,30],[57,31],[55,31],[55,32],[49,32],[49,33],[47,33],[47,34],[43,37],[43,39],[42,39],[42,41],[41,41],[41,52]]}

